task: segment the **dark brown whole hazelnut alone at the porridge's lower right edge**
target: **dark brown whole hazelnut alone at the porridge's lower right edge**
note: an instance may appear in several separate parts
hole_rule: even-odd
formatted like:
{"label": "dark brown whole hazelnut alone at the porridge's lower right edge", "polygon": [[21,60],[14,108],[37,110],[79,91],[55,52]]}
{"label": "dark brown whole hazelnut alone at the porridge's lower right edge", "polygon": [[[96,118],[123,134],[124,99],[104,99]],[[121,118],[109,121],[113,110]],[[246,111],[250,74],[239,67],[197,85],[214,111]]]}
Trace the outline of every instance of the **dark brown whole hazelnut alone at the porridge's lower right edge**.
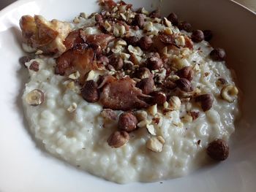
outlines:
{"label": "dark brown whole hazelnut alone at the porridge's lower right edge", "polygon": [[229,155],[229,147],[223,139],[216,139],[208,144],[207,154],[217,161],[224,161]]}

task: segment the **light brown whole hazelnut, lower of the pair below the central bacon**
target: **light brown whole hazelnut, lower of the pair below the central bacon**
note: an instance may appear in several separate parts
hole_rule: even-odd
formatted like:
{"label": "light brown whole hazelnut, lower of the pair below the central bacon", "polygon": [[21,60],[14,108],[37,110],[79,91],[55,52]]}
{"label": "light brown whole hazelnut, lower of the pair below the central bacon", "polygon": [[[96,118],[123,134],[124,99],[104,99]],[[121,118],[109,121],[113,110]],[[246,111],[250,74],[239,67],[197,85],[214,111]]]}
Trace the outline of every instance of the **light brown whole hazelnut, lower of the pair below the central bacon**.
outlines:
{"label": "light brown whole hazelnut, lower of the pair below the central bacon", "polygon": [[129,141],[129,134],[127,131],[115,131],[108,137],[108,145],[110,147],[118,148]]}

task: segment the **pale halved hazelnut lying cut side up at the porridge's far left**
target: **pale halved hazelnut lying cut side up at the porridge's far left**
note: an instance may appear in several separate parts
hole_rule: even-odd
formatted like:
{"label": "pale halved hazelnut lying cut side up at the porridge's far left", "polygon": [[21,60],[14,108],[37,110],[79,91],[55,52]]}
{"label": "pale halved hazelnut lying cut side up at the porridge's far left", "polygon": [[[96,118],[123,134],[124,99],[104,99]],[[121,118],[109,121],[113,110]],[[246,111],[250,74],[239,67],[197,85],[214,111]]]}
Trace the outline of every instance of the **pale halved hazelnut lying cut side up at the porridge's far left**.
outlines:
{"label": "pale halved hazelnut lying cut side up at the porridge's far left", "polygon": [[45,94],[39,90],[34,89],[26,95],[26,102],[32,106],[37,106],[45,101]]}

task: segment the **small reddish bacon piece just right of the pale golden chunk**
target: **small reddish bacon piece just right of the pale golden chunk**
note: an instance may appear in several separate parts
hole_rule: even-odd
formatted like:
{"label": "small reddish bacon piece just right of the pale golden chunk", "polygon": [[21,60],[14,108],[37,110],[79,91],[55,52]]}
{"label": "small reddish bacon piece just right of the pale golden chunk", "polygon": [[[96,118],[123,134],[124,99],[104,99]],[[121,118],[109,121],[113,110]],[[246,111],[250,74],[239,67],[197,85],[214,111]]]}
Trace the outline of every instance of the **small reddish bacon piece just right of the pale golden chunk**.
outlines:
{"label": "small reddish bacon piece just right of the pale golden chunk", "polygon": [[81,28],[71,31],[69,35],[66,37],[64,41],[64,45],[66,46],[67,50],[71,49],[72,47],[78,46],[79,44],[84,43],[82,37],[80,37],[80,32],[82,31]]}

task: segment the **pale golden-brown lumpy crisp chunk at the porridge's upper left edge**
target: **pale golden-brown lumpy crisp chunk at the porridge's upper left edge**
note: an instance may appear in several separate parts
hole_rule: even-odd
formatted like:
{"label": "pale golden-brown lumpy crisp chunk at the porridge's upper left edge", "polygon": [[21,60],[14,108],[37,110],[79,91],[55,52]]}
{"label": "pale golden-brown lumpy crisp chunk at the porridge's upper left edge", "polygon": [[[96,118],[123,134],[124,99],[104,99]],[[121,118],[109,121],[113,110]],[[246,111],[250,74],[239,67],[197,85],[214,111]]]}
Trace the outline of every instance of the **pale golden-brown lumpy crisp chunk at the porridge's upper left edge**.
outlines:
{"label": "pale golden-brown lumpy crisp chunk at the porridge's upper left edge", "polygon": [[47,54],[59,55],[66,50],[63,42],[70,31],[68,23],[59,20],[48,21],[40,15],[35,15],[34,18],[24,15],[20,18],[20,28],[23,42],[34,50],[39,49]]}

